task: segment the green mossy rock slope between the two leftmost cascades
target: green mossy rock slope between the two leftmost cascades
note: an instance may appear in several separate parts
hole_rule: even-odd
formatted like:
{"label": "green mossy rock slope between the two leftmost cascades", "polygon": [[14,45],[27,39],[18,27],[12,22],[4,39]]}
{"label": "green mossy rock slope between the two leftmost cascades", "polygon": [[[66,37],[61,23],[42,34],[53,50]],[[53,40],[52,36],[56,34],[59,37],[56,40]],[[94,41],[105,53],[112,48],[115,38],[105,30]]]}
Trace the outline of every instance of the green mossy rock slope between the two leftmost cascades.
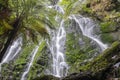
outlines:
{"label": "green mossy rock slope between the two leftmost cascades", "polygon": [[3,74],[3,76],[4,75],[6,76],[4,80],[9,79],[9,76],[12,76],[12,80],[20,80],[20,77],[21,77],[20,74],[23,73],[25,65],[28,62],[28,57],[34,47],[35,47],[35,44],[32,44],[32,43],[28,45],[24,45],[21,53],[19,54],[19,57],[16,58],[16,60],[10,61],[9,63],[3,65],[2,74],[6,72],[5,74]]}

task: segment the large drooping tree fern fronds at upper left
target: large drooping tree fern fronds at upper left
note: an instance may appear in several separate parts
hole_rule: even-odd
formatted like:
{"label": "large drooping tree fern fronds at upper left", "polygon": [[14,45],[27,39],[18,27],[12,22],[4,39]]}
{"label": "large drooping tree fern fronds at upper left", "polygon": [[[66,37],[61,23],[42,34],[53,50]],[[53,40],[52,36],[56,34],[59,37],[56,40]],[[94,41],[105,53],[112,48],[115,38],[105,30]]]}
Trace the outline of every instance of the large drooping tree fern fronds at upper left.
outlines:
{"label": "large drooping tree fern fronds at upper left", "polygon": [[20,32],[28,37],[32,37],[34,42],[37,35],[48,35],[46,26],[54,28],[56,24],[55,16],[57,12],[48,8],[46,5],[50,4],[49,0],[9,0],[9,7],[12,9],[12,15],[10,17],[13,22],[20,18]]}

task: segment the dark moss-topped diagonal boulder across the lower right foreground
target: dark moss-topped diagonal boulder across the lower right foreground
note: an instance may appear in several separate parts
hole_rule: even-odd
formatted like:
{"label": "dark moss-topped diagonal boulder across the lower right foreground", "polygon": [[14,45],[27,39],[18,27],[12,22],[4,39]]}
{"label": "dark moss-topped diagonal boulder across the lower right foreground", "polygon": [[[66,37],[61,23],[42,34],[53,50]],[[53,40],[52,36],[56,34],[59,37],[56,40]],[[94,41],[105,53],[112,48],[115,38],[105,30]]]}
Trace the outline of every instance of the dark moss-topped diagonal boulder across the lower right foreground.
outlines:
{"label": "dark moss-topped diagonal boulder across the lower right foreground", "polygon": [[[113,58],[114,56],[116,58]],[[62,80],[106,80],[114,71],[114,65],[119,61],[120,42],[116,41],[95,59],[80,66],[79,73],[70,74]]]}

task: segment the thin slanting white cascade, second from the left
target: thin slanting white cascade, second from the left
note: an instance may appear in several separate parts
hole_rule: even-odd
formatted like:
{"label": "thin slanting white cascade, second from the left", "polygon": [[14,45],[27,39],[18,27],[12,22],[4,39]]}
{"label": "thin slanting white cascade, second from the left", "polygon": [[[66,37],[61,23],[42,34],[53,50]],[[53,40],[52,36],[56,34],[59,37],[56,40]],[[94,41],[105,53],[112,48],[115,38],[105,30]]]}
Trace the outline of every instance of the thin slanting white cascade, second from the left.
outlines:
{"label": "thin slanting white cascade, second from the left", "polygon": [[39,43],[39,45],[37,45],[33,51],[31,52],[31,58],[29,59],[29,62],[27,64],[27,68],[25,69],[25,71],[23,72],[22,74],[22,77],[21,77],[21,80],[26,80],[26,76],[28,74],[28,72],[30,71],[30,68],[32,66],[32,63],[34,61],[34,58],[35,58],[35,55],[37,54],[38,52],[38,49],[39,49],[39,46],[40,46],[41,42]]}

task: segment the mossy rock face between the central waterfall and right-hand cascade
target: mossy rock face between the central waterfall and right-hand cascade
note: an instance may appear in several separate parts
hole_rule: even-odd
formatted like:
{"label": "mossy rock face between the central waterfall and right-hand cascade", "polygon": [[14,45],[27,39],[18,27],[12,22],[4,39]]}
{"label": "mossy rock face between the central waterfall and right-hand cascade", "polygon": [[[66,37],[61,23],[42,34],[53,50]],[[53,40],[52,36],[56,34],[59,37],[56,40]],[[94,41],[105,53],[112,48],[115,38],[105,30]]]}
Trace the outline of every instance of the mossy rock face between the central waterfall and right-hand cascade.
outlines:
{"label": "mossy rock face between the central waterfall and right-hand cascade", "polygon": [[[79,67],[85,65],[100,53],[95,41],[84,36],[79,26],[71,20],[73,25],[66,28],[66,61],[70,66],[69,73],[79,72]],[[97,24],[96,24],[97,25]],[[94,28],[98,34],[99,27]]]}

